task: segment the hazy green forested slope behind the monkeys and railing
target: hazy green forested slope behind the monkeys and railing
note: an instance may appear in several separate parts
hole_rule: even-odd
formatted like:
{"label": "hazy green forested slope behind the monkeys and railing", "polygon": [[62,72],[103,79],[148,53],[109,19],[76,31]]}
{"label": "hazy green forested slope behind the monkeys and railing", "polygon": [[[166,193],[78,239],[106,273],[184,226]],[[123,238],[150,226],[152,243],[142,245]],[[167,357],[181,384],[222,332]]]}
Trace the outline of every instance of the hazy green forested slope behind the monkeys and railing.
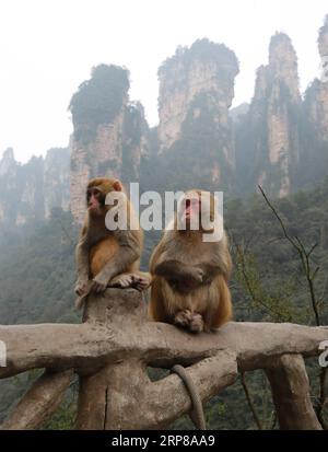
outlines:
{"label": "hazy green forested slope behind the monkeys and railing", "polygon": [[[311,192],[298,192],[289,199],[274,201],[291,236],[297,236],[311,254],[311,265],[319,270],[315,291],[320,322],[328,323],[328,179]],[[291,321],[315,325],[308,285],[297,252],[283,236],[279,221],[260,195],[249,200],[230,200],[225,205],[225,227],[231,237],[234,275],[231,282],[234,315],[238,321]],[[0,242],[1,323],[79,322],[73,308],[73,248],[77,230],[71,217],[56,209],[48,222],[34,232],[5,233]],[[145,268],[159,233],[147,233]],[[308,362],[313,399],[318,404],[316,360]],[[152,370],[153,378],[161,372]],[[0,418],[20,398],[35,372],[0,381]],[[261,428],[276,428],[270,389],[261,371],[247,373],[246,384],[260,419]],[[72,428],[77,383],[73,383],[59,410],[44,428]],[[325,414],[327,418],[327,414]],[[213,429],[256,429],[241,381],[207,405],[207,420]],[[327,421],[327,419],[326,419]],[[190,428],[187,418],[173,426]]]}

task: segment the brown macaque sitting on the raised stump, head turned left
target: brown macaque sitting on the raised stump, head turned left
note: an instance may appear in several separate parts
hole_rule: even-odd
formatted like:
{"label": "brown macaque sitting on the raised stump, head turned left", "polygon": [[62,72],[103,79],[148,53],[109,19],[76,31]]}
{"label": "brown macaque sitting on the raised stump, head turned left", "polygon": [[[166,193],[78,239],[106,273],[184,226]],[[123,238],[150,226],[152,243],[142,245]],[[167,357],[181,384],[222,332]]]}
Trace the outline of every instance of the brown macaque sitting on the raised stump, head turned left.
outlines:
{"label": "brown macaque sitting on the raised stump, head turned left", "polygon": [[[106,205],[106,196],[114,192],[117,202]],[[119,199],[125,202],[127,228],[109,230],[105,218],[109,211],[113,218],[117,218]],[[75,251],[78,308],[82,306],[91,291],[101,293],[107,287],[143,290],[149,286],[148,275],[139,271],[143,232],[120,181],[101,177],[90,181],[86,205],[87,212]],[[132,222],[137,224],[136,230],[130,228]]]}

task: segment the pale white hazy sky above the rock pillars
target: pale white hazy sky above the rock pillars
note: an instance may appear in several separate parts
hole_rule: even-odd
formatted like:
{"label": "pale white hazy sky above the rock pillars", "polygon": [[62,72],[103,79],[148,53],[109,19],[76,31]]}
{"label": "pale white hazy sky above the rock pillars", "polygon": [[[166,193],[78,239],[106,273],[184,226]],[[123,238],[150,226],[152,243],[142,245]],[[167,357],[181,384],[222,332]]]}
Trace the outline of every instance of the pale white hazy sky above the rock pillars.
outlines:
{"label": "pale white hazy sky above the rock pillars", "polygon": [[99,62],[130,70],[130,97],[156,124],[159,66],[201,37],[239,59],[233,105],[251,97],[276,31],[293,40],[304,91],[319,73],[316,40],[327,13],[327,0],[1,0],[0,153],[13,147],[26,161],[67,146],[70,97]]}

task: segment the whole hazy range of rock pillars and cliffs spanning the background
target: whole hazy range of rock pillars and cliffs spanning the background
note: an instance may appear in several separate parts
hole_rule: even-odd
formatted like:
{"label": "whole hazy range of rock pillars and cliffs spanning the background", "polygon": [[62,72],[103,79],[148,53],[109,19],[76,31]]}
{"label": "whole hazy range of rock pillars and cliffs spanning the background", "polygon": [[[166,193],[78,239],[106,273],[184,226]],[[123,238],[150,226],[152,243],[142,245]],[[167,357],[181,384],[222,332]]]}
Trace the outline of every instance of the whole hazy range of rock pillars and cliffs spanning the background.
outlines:
{"label": "whole hazy range of rock pillars and cliffs spanning the background", "polygon": [[[328,16],[318,34],[328,54]],[[276,33],[268,63],[258,68],[249,104],[231,108],[236,55],[224,44],[198,39],[178,47],[159,69],[159,125],[149,128],[140,103],[129,98],[129,71],[92,69],[70,102],[73,134],[68,149],[46,159],[0,162],[0,224],[48,218],[54,207],[81,223],[84,190],[95,176],[140,182],[141,189],[202,187],[227,197],[260,184],[274,197],[312,186],[328,172],[328,82],[300,92],[291,38]],[[243,74],[241,74],[243,77]],[[70,160],[70,163],[69,163]]]}

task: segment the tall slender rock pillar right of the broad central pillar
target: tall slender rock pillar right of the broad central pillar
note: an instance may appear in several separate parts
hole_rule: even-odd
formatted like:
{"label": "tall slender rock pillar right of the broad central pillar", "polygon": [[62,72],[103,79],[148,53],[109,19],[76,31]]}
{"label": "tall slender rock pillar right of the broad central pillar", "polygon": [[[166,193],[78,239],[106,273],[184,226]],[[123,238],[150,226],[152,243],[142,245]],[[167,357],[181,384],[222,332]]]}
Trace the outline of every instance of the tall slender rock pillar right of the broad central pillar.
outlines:
{"label": "tall slender rock pillar right of the broad central pillar", "polygon": [[291,193],[300,161],[298,119],[302,98],[297,57],[290,37],[272,36],[269,63],[257,71],[255,93],[244,124],[237,127],[237,164],[247,183],[273,196]]}

